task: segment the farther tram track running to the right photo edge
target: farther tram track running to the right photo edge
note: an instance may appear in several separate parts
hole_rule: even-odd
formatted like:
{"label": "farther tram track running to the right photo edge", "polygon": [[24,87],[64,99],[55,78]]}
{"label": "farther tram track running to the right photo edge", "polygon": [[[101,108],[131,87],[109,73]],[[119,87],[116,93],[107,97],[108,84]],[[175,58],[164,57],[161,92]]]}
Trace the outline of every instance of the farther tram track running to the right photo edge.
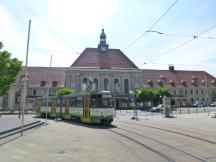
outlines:
{"label": "farther tram track running to the right photo edge", "polygon": [[137,125],[137,126],[157,129],[157,130],[161,130],[161,131],[165,131],[165,132],[170,132],[170,133],[190,137],[190,138],[193,138],[193,139],[196,139],[196,140],[204,141],[204,142],[207,142],[207,143],[210,143],[210,144],[216,144],[216,141],[212,141],[212,140],[209,140],[209,139],[204,139],[204,138],[201,138],[201,137],[197,137],[197,136],[194,136],[194,135],[178,132],[178,131],[175,131],[175,130],[169,130],[169,129],[165,129],[165,128],[159,128],[159,127],[150,126],[150,125],[146,125],[146,124],[132,123],[132,122],[122,121],[122,120],[117,120],[117,121],[121,122],[121,123],[127,123],[127,124],[131,124],[131,125]]}

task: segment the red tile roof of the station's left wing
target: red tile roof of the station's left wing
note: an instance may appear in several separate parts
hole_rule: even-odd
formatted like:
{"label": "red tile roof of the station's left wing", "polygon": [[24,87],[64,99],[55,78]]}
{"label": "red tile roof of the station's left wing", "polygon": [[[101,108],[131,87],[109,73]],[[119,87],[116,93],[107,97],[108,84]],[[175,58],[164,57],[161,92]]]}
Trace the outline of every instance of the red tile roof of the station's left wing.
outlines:
{"label": "red tile roof of the station's left wing", "polygon": [[[39,87],[41,84],[41,81],[47,81],[48,80],[48,74],[49,74],[49,67],[28,67],[28,76],[29,76],[29,82],[28,86],[37,86]],[[19,76],[17,77],[16,84],[20,84],[20,77],[24,74],[24,68],[23,71],[20,72]],[[50,73],[50,83],[52,84],[52,81],[58,81],[57,87],[63,87],[65,84],[65,75],[66,75],[66,68],[63,67],[51,67],[51,73]],[[46,84],[47,86],[47,84]]]}

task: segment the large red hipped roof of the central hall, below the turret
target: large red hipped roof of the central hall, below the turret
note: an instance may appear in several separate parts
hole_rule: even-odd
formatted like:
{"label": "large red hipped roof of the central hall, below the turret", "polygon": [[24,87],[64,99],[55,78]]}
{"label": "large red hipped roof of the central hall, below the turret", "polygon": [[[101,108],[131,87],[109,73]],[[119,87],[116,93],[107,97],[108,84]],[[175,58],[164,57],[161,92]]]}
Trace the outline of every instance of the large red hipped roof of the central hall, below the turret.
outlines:
{"label": "large red hipped roof of the central hall, below the turret", "polygon": [[108,49],[107,52],[101,53],[97,48],[86,48],[71,67],[138,68],[120,49]]}

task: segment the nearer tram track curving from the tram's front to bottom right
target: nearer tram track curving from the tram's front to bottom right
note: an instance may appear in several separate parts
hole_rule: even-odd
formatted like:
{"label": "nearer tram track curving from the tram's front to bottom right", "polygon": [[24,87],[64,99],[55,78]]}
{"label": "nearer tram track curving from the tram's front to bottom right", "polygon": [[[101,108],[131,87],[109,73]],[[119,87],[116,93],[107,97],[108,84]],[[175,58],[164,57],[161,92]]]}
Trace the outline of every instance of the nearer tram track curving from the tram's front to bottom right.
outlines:
{"label": "nearer tram track curving from the tram's front to bottom right", "polygon": [[[140,134],[140,133],[137,133],[137,132],[125,129],[125,128],[117,127],[117,128],[114,128],[114,129],[109,129],[108,131],[110,131],[110,132],[112,132],[114,134],[120,135],[120,136],[122,136],[122,137],[124,137],[124,138],[126,138],[126,139],[128,139],[128,140],[130,140],[130,141],[132,141],[132,142],[134,142],[134,143],[136,143],[136,144],[150,150],[150,151],[152,151],[153,153],[159,155],[160,157],[162,157],[163,159],[165,159],[165,160],[167,160],[169,162],[175,162],[175,161],[178,161],[178,159],[171,157],[171,155],[167,155],[168,153],[166,153],[166,152],[169,152],[169,153],[170,152],[172,152],[172,153],[175,152],[175,154],[177,152],[177,153],[180,153],[180,154],[182,154],[184,156],[187,156],[189,158],[193,158],[194,160],[196,159],[196,161],[208,162],[207,160],[205,160],[205,159],[203,159],[203,158],[199,157],[198,155],[195,155],[195,154],[193,154],[191,152],[185,151],[185,150],[177,148],[177,147],[175,147],[173,145],[167,144],[165,142],[159,141],[157,139],[145,136],[143,134]],[[138,139],[140,139],[140,140],[138,140]],[[165,146],[166,147],[166,149],[165,149],[166,152],[164,152],[163,150],[159,151],[158,149],[155,149],[155,148],[149,146],[148,144],[145,144],[144,142],[142,142],[143,140],[144,141],[150,140],[153,143],[155,143],[156,145],[162,145],[163,147]]]}

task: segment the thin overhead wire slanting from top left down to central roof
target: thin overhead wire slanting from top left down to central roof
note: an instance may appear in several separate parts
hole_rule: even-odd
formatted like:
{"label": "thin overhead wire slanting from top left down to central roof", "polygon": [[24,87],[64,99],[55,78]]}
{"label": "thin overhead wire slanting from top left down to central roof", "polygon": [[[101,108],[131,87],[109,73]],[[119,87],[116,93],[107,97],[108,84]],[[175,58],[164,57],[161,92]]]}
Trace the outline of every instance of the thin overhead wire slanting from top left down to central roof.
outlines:
{"label": "thin overhead wire slanting from top left down to central roof", "polygon": [[48,23],[46,23],[42,18],[38,16],[23,0],[19,0],[19,2],[28,9],[38,20],[40,20],[53,34],[55,34],[64,44],[70,47],[74,52],[78,53],[68,42],[65,41]]}

